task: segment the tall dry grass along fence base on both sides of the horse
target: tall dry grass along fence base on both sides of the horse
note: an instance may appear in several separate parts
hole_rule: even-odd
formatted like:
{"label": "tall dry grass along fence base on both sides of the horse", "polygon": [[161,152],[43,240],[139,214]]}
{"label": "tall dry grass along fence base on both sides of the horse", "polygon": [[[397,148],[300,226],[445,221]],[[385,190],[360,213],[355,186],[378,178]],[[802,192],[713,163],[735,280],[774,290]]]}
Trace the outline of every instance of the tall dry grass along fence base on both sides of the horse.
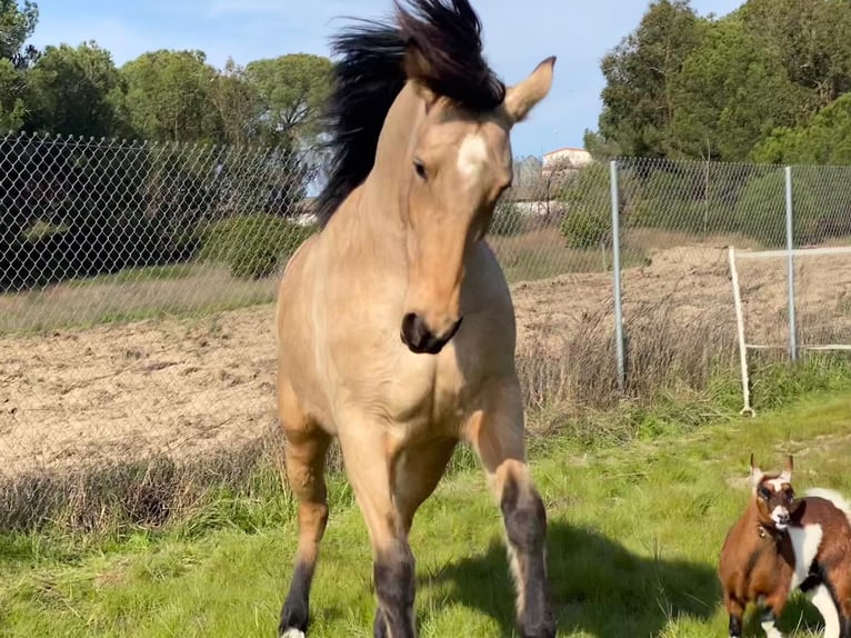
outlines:
{"label": "tall dry grass along fence base on both sides of the horse", "polygon": [[[608,312],[588,315],[562,340],[533,339],[518,352],[530,427],[530,448],[567,437],[600,447],[635,437],[654,437],[665,428],[694,428],[728,409],[738,411],[737,357],[732,331],[709,310],[683,326],[674,303],[634,312],[630,335],[627,387],[618,389],[614,341]],[[825,335],[825,338],[830,337]],[[831,389],[851,379],[839,358],[795,371],[782,355],[760,362],[759,397],[775,407],[813,389]],[[252,498],[278,495],[283,486],[282,438],[274,427],[262,436],[218,452],[182,457],[163,455],[116,460],[62,472],[32,471],[0,482],[0,531],[43,528],[61,534],[122,534],[139,527],[192,527],[199,512],[222,496]],[[465,450],[465,448],[463,448]],[[454,468],[475,461],[460,451]],[[337,446],[328,459],[339,473]],[[187,522],[188,521],[188,522]],[[203,522],[207,525],[207,521]]]}

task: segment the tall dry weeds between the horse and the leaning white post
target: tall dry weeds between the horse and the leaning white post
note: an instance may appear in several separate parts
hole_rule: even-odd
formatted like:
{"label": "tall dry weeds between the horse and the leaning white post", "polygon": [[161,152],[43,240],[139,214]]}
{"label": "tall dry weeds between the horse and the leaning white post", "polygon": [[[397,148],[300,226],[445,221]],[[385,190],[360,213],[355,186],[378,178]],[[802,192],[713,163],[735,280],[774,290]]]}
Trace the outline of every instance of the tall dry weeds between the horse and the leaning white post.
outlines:
{"label": "tall dry weeds between the horse and the leaning white post", "polygon": [[633,303],[624,312],[625,387],[619,388],[611,309],[584,315],[570,335],[547,328],[518,348],[527,408],[557,403],[571,416],[624,399],[652,402],[660,391],[702,391],[737,363],[727,309],[693,311],[673,300]]}

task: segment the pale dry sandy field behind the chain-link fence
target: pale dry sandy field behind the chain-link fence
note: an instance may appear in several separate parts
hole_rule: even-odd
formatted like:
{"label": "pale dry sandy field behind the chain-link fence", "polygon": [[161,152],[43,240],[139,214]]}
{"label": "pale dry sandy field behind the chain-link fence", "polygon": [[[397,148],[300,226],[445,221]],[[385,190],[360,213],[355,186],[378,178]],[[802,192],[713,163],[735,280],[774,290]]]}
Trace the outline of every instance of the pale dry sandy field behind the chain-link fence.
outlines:
{"label": "pale dry sandy field behind the chain-link fence", "polygon": [[[671,370],[692,386],[705,383],[698,378],[709,358],[737,357],[723,249],[730,238],[667,250],[650,246],[677,246],[677,237],[652,239],[631,240],[643,257],[623,273],[635,393]],[[521,366],[527,380],[537,379],[527,385],[532,399],[584,403],[615,383],[611,273],[571,271],[600,256],[568,252],[559,275],[535,279],[528,268],[543,261],[523,251],[538,246],[547,268],[555,268],[559,252],[547,240],[497,240],[508,270],[527,265],[512,277],[524,278],[512,285]],[[851,342],[850,266],[851,256],[799,260],[798,319],[807,342]],[[784,269],[782,259],[740,265],[750,342],[781,349],[787,342]],[[146,453],[183,458],[233,449],[273,425],[273,281],[236,282],[198,268],[154,275],[156,281],[124,273],[0,298],[7,330],[28,328],[0,337],[1,472]],[[136,320],[108,322],[120,310]],[[527,369],[542,359],[545,370]]]}

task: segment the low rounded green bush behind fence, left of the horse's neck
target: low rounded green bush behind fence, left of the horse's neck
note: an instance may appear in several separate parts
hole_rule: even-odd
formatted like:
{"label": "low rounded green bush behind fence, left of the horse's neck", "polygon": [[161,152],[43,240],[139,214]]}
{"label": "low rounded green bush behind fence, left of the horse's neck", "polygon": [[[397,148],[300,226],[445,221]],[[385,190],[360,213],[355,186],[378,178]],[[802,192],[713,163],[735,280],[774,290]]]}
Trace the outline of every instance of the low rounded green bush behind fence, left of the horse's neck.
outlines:
{"label": "low rounded green bush behind fence, left of the horse's neck", "polygon": [[233,217],[204,233],[201,259],[226,263],[233,277],[261,279],[274,272],[312,231],[271,215]]}

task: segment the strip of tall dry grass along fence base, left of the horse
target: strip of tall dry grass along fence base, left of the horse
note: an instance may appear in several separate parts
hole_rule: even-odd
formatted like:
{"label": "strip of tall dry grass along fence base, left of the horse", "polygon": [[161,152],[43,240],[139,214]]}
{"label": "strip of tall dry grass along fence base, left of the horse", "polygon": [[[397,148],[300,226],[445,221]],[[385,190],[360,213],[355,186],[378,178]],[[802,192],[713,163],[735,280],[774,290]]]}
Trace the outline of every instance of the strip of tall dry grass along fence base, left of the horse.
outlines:
{"label": "strip of tall dry grass along fence base, left of the horse", "polygon": [[[236,449],[198,458],[157,455],[79,470],[30,471],[0,480],[0,530],[93,537],[191,519],[224,492],[280,487],[282,440],[270,431]],[[262,487],[269,494],[270,485]]]}

